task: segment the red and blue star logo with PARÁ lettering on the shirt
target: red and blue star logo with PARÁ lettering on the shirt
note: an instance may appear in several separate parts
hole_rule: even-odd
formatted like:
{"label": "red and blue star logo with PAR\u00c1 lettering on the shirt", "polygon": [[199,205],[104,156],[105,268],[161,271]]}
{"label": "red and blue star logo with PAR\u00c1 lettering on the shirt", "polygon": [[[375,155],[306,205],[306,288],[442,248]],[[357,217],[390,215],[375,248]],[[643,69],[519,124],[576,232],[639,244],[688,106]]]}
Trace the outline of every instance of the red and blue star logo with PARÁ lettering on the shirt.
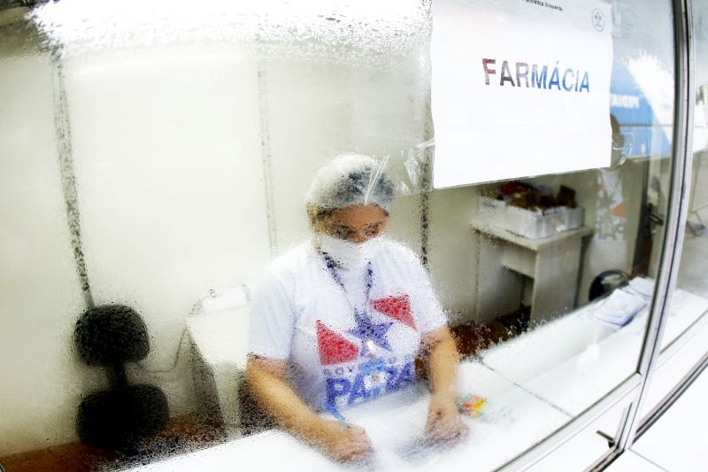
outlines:
{"label": "red and blue star logo with PAR\u00c1 lettering on the shirt", "polygon": [[[355,312],[355,326],[345,332],[358,338],[359,343],[351,342],[323,321],[315,322],[328,407],[368,401],[415,380],[414,356],[407,352],[410,349],[401,349],[395,343],[392,346],[388,336],[395,323],[418,331],[408,296],[379,298],[371,306],[386,315],[387,321],[375,322],[369,313]],[[417,351],[418,346],[413,347]]]}

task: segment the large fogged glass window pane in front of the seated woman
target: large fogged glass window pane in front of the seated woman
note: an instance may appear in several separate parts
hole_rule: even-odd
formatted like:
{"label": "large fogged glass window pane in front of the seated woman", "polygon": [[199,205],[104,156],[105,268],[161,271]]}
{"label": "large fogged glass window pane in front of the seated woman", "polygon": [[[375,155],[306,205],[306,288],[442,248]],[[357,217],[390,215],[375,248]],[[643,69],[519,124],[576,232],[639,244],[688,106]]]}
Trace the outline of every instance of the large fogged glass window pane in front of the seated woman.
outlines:
{"label": "large fogged glass window pane in front of the seated woman", "polygon": [[[456,5],[550,44],[576,33],[534,22],[578,8],[560,0]],[[589,10],[611,45],[607,166],[444,189],[435,8],[3,11],[8,472],[494,469],[635,373],[673,159],[672,5]],[[489,120],[509,143],[541,129],[509,114]]]}

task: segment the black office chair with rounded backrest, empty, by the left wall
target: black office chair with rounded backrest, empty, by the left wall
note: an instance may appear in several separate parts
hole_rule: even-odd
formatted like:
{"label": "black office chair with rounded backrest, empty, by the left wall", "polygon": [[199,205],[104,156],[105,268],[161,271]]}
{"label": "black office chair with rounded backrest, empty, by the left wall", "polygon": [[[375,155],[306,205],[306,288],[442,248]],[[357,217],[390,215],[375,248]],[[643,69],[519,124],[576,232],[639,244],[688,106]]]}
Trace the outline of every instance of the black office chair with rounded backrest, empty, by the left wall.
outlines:
{"label": "black office chair with rounded backrest, empty, by the left wall", "polygon": [[148,329],[128,306],[90,308],[74,330],[81,360],[106,368],[111,387],[81,402],[76,429],[81,441],[117,453],[141,453],[146,440],[165,429],[170,412],[165,393],[152,385],[129,385],[126,362],[150,351]]}

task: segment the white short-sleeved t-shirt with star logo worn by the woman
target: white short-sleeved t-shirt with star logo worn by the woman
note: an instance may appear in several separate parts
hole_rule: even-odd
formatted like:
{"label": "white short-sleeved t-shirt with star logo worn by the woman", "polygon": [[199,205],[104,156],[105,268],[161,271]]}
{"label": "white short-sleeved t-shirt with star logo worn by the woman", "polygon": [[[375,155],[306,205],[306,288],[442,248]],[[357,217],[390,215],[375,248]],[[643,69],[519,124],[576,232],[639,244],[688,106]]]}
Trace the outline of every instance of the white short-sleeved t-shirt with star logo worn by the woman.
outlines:
{"label": "white short-sleeved t-shirt with star logo worn by the woman", "polygon": [[316,410],[412,383],[421,336],[445,326],[418,256],[382,237],[372,245],[366,266],[334,268],[343,288],[307,242],[274,260],[254,293],[250,353],[289,360],[293,389]]}

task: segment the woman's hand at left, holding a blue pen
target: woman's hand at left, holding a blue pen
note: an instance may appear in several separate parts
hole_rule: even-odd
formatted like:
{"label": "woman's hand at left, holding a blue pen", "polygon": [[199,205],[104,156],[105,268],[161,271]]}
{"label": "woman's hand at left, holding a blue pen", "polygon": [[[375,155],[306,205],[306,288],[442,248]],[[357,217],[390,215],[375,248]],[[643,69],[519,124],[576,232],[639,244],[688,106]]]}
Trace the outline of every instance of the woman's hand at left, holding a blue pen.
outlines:
{"label": "woman's hand at left, holding a blue pen", "polygon": [[319,432],[313,442],[334,460],[361,460],[372,451],[366,431],[358,426],[323,420]]}

